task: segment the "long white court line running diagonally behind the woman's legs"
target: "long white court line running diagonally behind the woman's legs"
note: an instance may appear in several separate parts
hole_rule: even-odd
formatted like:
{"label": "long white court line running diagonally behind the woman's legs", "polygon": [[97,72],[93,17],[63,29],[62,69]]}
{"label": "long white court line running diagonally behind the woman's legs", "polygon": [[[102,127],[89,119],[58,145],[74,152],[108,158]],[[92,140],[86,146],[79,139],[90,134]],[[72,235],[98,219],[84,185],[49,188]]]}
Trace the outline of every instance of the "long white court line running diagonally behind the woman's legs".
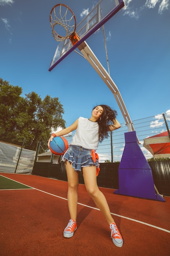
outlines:
{"label": "long white court line running diagonally behind the woman's legs", "polygon": [[[3,175],[0,175],[0,176],[3,176]],[[5,176],[3,176],[3,177],[5,177]],[[7,178],[7,177],[5,177],[5,178]],[[10,178],[7,178],[7,179],[12,180],[12,179],[10,179]],[[13,180],[13,181],[17,182],[16,180]],[[18,183],[20,183],[20,184],[22,184],[22,185],[25,185],[25,186],[28,186],[28,185],[26,185],[26,184],[24,184],[24,183],[21,183],[21,182],[18,182]],[[54,194],[48,193],[48,192],[46,192],[46,191],[43,191],[43,190],[40,190],[40,189],[36,189],[36,188],[34,188],[34,187],[32,187],[32,186],[29,186],[29,187],[32,188],[32,189],[38,190],[38,191],[40,191],[40,192],[46,193],[46,194],[48,194],[48,195],[52,195],[52,196],[54,196],[54,197],[57,197],[57,198],[60,198],[60,199],[63,199],[63,200],[68,201],[67,198],[62,198],[62,197],[59,196],[59,195],[54,195]],[[94,209],[94,210],[97,210],[97,211],[100,211],[100,209],[98,209],[98,208],[96,208],[96,207],[89,206],[89,205],[87,205],[87,204],[81,204],[81,203],[77,203],[77,204],[82,205],[82,206],[85,206],[85,207],[88,207],[88,208],[91,208],[91,209]],[[120,218],[124,218],[124,219],[126,219],[126,220],[131,220],[131,221],[134,221],[134,222],[137,222],[137,223],[140,223],[140,224],[143,224],[143,225],[146,225],[146,226],[149,226],[149,227],[153,227],[153,228],[155,228],[155,229],[159,229],[159,230],[161,230],[161,231],[165,231],[165,232],[167,232],[167,233],[170,233],[170,230],[168,230],[168,229],[163,229],[163,228],[161,228],[161,227],[157,227],[157,226],[148,224],[148,223],[146,223],[146,222],[143,222],[143,221],[140,221],[140,220],[135,220],[135,219],[132,219],[132,218],[129,218],[129,217],[126,217],[126,216],[122,216],[122,215],[116,214],[116,213],[111,213],[111,214],[112,214],[112,215],[115,215],[115,216],[118,216],[118,217],[120,217]]]}

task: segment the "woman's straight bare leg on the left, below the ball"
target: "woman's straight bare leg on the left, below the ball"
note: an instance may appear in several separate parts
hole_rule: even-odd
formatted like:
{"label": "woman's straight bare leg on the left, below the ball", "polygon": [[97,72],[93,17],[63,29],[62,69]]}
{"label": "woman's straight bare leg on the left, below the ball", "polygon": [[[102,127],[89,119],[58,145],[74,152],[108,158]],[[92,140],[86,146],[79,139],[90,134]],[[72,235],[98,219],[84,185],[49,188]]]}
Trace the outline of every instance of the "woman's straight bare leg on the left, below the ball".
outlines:
{"label": "woman's straight bare leg on the left, below the ball", "polygon": [[78,200],[78,173],[72,168],[72,164],[65,162],[65,168],[68,177],[68,209],[70,212],[70,219],[76,222],[77,218],[77,200]]}

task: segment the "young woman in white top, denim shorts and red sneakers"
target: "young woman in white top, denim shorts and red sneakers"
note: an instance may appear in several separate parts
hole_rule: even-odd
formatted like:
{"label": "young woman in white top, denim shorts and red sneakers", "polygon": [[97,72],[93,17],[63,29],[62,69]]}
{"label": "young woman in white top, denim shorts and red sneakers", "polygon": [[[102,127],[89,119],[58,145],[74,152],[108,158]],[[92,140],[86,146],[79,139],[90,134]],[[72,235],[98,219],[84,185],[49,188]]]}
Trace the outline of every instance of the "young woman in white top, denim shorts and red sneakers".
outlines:
{"label": "young woman in white top, denim shorts and red sneakers", "polygon": [[79,117],[68,128],[53,133],[48,141],[49,147],[50,141],[54,137],[63,136],[76,130],[72,142],[62,158],[65,161],[68,177],[68,208],[70,212],[70,221],[63,232],[66,238],[72,237],[77,229],[78,173],[82,171],[87,192],[109,224],[113,243],[117,247],[123,245],[122,236],[111,216],[105,196],[98,189],[96,179],[99,172],[99,163],[95,150],[98,148],[99,141],[101,142],[109,136],[109,131],[120,128],[116,115],[116,110],[112,110],[107,105],[96,106],[92,110],[92,116],[89,119]]}

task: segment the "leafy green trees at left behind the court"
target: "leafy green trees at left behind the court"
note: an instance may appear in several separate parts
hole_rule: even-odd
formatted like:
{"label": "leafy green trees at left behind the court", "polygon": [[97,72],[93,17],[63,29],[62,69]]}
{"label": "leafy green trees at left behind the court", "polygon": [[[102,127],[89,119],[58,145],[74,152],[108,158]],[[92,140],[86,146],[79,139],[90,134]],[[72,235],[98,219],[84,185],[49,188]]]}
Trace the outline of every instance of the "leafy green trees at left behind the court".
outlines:
{"label": "leafy green trees at left behind the court", "polygon": [[65,128],[63,105],[49,95],[42,100],[31,92],[22,97],[22,88],[0,78],[0,138],[35,150],[38,141],[48,140],[52,130]]}

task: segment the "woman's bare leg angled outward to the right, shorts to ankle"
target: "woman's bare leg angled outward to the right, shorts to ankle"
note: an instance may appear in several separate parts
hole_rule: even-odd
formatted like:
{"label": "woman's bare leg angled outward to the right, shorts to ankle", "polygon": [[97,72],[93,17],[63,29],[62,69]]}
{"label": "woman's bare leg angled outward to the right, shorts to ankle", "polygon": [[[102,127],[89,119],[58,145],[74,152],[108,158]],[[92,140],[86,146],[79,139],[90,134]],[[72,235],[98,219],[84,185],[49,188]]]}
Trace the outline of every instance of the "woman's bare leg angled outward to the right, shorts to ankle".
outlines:
{"label": "woman's bare leg angled outward to the right, shorts to ankle", "polygon": [[96,179],[96,166],[83,167],[83,178],[87,192],[94,200],[96,206],[104,214],[108,224],[114,222],[105,195],[98,189]]}

